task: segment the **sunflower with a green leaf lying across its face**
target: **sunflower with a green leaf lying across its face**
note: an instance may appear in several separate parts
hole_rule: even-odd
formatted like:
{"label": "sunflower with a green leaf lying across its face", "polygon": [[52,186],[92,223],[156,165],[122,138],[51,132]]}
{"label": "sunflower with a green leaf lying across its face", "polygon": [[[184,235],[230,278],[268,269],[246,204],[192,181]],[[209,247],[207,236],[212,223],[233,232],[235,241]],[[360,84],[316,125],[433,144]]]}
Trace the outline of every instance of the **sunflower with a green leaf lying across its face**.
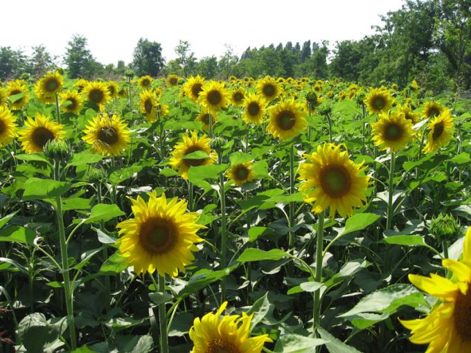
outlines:
{"label": "sunflower with a green leaf lying across its face", "polygon": [[[210,143],[211,140],[206,135],[198,138],[196,132],[191,132],[191,136],[183,135],[183,141],[177,143],[171,152],[170,165],[178,171],[183,179],[188,179],[188,170],[192,165],[197,167],[199,165],[214,164],[217,161],[217,154],[211,150]],[[205,152],[208,154],[208,158],[184,159],[187,154],[197,151]]]}

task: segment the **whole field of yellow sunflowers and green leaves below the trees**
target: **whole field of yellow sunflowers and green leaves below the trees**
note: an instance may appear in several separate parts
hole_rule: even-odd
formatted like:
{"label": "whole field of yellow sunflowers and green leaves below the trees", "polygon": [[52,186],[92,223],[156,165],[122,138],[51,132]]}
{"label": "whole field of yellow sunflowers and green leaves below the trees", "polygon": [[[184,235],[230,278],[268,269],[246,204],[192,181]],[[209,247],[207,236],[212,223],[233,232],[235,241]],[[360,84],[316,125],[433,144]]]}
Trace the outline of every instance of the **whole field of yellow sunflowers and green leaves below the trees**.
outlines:
{"label": "whole field of yellow sunflowers and green leaves below the trees", "polygon": [[0,352],[471,352],[471,100],[419,83],[4,82]]}

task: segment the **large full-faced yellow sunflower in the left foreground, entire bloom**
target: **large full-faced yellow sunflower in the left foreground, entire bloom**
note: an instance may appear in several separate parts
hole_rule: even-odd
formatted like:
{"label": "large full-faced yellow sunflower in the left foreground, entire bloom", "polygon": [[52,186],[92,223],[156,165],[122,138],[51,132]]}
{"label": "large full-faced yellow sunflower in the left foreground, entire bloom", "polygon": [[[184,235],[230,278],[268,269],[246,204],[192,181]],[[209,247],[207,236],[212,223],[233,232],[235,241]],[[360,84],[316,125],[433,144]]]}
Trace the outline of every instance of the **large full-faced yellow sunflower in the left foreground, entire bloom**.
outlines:
{"label": "large full-faced yellow sunflower in the left foreground, entire bloom", "polygon": [[147,203],[140,196],[130,199],[134,218],[116,226],[119,251],[136,273],[157,270],[159,275],[176,277],[195,260],[195,243],[203,241],[196,233],[205,227],[196,224],[197,212],[186,212],[186,201],[167,200],[165,194],[157,197],[155,191],[148,196]]}

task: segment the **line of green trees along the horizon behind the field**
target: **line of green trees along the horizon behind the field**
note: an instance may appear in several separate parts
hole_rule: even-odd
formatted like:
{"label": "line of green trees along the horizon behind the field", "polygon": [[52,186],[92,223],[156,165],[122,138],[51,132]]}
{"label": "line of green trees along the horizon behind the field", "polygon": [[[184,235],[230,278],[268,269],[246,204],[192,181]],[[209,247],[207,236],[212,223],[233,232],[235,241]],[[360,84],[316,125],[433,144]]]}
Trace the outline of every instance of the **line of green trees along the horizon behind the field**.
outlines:
{"label": "line of green trees along the horizon behind the field", "polygon": [[[197,60],[190,44],[180,41],[176,58],[165,62],[159,42],[141,38],[134,48],[133,61],[103,65],[87,46],[87,39],[74,35],[62,64],[70,78],[118,78],[125,71],[136,75],[182,77],[203,75],[226,79],[264,75],[299,78],[310,76],[342,78],[367,84],[396,82],[405,86],[413,78],[423,87],[441,91],[471,87],[471,0],[405,0],[402,8],[381,17],[373,35],[357,41],[345,40],[333,46],[326,41],[303,44],[287,42],[247,48],[240,57],[226,47],[221,57]],[[33,54],[0,47],[0,78],[27,74],[35,78],[61,64],[44,46]]]}

